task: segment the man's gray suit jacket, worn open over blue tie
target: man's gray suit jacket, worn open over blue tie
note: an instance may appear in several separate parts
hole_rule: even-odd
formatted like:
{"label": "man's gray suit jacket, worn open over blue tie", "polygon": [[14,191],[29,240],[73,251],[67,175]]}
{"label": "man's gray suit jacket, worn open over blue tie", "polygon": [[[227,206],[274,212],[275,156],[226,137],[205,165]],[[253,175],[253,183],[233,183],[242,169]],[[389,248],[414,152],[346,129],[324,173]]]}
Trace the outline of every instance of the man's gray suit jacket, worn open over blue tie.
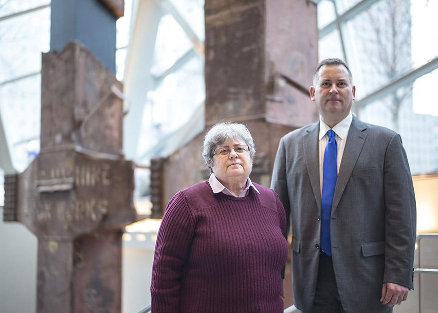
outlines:
{"label": "man's gray suit jacket, worn open over blue tie", "polygon": [[[309,312],[318,272],[321,191],[319,122],[280,140],[271,188],[292,227],[295,306]],[[413,289],[416,207],[412,177],[397,133],[353,117],[331,210],[330,238],[346,312],[388,312],[383,282]]]}

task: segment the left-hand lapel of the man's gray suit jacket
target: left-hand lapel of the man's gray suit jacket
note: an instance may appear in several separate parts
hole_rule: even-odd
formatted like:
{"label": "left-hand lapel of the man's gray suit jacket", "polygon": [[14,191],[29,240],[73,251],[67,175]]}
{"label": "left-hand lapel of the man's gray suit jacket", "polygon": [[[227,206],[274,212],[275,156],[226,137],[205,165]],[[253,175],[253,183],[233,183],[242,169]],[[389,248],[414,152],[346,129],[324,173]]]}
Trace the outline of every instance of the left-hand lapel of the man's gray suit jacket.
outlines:
{"label": "left-hand lapel of the man's gray suit jacket", "polygon": [[304,159],[310,184],[318,209],[321,210],[321,187],[319,182],[319,152],[318,152],[319,122],[314,123],[303,136]]}

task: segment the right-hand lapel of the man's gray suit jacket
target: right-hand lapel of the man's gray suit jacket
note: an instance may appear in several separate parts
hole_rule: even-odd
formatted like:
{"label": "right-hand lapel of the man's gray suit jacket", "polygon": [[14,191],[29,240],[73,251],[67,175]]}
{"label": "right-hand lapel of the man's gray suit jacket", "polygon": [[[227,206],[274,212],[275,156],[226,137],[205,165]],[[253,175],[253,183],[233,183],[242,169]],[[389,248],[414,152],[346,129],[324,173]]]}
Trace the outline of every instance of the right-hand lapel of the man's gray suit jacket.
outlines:
{"label": "right-hand lapel of the man's gray suit jacket", "polygon": [[350,179],[354,165],[361,154],[366,138],[366,134],[363,132],[365,129],[365,123],[359,121],[353,116],[353,121],[351,122],[350,129],[348,130],[344,154],[342,155],[338,179],[336,181],[331,215],[333,215],[333,212],[338,207],[339,201],[341,200],[342,194],[347,186],[347,182]]}

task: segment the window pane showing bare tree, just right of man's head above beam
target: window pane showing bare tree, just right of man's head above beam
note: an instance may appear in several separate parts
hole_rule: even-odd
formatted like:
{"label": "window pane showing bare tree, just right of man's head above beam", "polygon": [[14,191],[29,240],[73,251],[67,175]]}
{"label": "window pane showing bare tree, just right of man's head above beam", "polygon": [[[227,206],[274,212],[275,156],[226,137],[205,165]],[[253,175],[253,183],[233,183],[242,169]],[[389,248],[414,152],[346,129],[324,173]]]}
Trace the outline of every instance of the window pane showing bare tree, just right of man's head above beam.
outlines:
{"label": "window pane showing bare tree, just right of man's head above beam", "polygon": [[409,0],[384,0],[344,25],[358,99],[413,69],[410,17]]}

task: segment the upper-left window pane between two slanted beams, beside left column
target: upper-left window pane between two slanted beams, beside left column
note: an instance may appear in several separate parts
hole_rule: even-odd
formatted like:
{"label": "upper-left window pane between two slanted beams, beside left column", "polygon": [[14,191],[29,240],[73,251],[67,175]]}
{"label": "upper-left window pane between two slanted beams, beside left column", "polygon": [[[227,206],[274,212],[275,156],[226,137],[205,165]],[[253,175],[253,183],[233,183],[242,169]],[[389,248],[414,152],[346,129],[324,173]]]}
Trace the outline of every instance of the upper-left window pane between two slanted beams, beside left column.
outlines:
{"label": "upper-left window pane between two slanted beams, beside left column", "polygon": [[0,82],[41,70],[50,49],[50,8],[0,22]]}

